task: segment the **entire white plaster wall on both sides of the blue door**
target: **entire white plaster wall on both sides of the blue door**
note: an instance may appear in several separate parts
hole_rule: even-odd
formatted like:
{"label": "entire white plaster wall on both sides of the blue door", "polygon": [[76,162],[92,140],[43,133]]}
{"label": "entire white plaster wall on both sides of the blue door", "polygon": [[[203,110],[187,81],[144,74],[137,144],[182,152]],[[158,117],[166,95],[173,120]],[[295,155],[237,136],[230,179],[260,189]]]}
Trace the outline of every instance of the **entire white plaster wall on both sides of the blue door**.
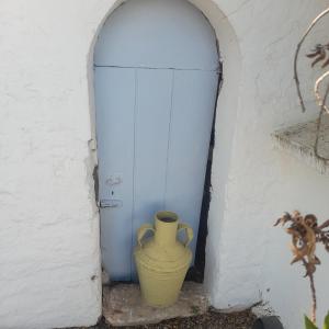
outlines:
{"label": "entire white plaster wall on both sides of the blue door", "polygon": [[[294,208],[327,218],[329,179],[275,150],[270,134],[309,116],[296,101],[293,53],[329,1],[191,2],[214,25],[224,63],[206,250],[212,304],[269,300],[286,328],[300,328],[307,282],[272,223]],[[1,1],[0,328],[87,326],[101,314],[91,68],[113,4]],[[322,262],[320,317],[329,308]]]}

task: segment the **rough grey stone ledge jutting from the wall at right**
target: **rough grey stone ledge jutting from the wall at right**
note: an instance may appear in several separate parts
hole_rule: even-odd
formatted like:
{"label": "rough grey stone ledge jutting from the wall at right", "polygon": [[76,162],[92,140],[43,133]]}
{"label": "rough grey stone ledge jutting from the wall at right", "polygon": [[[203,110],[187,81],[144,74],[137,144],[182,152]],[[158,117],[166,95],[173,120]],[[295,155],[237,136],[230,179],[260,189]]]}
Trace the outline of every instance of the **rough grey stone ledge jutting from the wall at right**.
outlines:
{"label": "rough grey stone ledge jutting from the wall at right", "polygon": [[[279,149],[313,167],[321,174],[329,174],[329,161],[318,159],[314,151],[317,121],[290,126],[272,134]],[[329,158],[329,115],[325,115],[320,129],[319,155]]]}

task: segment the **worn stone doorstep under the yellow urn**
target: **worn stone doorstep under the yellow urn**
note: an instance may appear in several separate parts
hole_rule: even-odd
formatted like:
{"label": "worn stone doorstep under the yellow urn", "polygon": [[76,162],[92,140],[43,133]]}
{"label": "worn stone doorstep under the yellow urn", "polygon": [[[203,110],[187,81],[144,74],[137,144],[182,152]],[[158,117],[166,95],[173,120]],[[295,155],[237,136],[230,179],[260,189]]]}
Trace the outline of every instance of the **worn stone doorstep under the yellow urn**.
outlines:
{"label": "worn stone doorstep under the yellow urn", "polygon": [[208,298],[203,285],[185,282],[178,302],[166,308],[147,306],[137,284],[103,287],[103,316],[115,327],[143,326],[163,320],[205,314]]}

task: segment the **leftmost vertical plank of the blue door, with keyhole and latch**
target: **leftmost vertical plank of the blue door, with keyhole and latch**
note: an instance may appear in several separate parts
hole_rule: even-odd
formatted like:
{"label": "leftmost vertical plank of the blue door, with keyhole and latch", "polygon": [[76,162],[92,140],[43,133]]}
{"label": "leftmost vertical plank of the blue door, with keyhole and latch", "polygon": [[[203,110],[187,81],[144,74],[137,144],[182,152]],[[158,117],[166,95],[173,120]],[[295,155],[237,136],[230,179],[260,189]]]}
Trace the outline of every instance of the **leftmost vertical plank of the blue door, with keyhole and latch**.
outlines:
{"label": "leftmost vertical plank of the blue door, with keyhole and latch", "polygon": [[[134,69],[95,68],[100,200],[122,202],[101,208],[103,265],[115,280],[131,280],[132,271],[135,78]],[[106,183],[113,174],[122,183]]]}

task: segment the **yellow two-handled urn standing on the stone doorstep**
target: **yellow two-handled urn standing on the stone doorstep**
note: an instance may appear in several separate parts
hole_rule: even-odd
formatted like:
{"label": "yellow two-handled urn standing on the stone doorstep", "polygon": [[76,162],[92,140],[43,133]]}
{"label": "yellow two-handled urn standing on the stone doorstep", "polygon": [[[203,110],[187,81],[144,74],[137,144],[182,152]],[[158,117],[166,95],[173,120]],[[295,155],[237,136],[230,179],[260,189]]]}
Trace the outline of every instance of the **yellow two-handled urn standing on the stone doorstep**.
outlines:
{"label": "yellow two-handled urn standing on the stone doorstep", "polygon": [[[184,243],[177,239],[180,230],[186,234]],[[152,231],[154,237],[144,242],[147,231]],[[188,246],[192,239],[192,228],[180,224],[178,215],[171,212],[157,213],[155,225],[145,224],[138,229],[135,262],[141,295],[148,305],[167,307],[175,303],[191,264]]]}

